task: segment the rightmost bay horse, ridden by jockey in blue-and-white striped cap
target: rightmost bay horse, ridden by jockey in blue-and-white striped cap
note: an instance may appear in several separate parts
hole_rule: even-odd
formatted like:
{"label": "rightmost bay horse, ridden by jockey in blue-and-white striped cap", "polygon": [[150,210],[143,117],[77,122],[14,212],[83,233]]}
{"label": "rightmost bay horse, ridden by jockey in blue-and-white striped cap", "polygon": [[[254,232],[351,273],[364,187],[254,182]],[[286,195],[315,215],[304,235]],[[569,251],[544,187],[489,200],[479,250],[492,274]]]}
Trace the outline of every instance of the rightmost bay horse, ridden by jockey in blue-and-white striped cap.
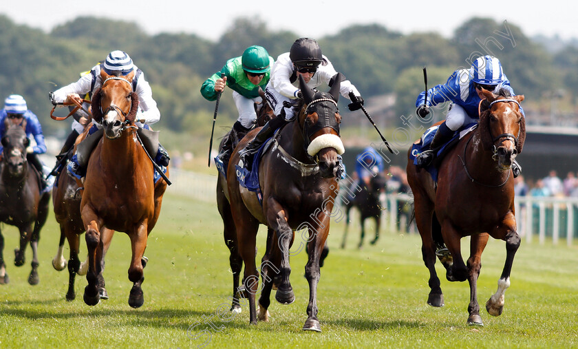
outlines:
{"label": "rightmost bay horse, ridden by jockey in blue-and-white striped cap", "polygon": [[[442,158],[437,186],[425,169],[407,162],[407,180],[414,193],[414,209],[422,238],[422,255],[429,269],[431,291],[427,304],[443,306],[440,279],[436,275],[436,246],[447,245],[451,255],[438,255],[449,281],[470,286],[470,325],[483,326],[478,304],[477,280],[481,255],[489,236],[506,242],[506,261],[497,291],[486,302],[486,310],[497,316],[504,308],[504,294],[520,236],[516,231],[512,161],[522,152],[526,138],[520,102],[524,96],[499,95],[483,90],[478,128],[464,136]],[[410,149],[411,151],[411,149]],[[437,189],[436,189],[437,187]],[[467,266],[460,252],[460,239],[471,236]]]}

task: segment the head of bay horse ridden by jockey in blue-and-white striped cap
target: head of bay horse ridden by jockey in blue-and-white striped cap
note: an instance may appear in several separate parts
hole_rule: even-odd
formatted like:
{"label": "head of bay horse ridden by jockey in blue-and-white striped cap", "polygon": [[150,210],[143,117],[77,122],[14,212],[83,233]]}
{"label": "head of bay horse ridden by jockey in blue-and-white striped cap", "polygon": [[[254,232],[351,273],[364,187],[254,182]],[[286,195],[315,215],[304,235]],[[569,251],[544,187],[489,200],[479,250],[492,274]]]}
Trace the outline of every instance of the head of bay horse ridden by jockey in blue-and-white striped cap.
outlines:
{"label": "head of bay horse ridden by jockey in blue-and-white striped cap", "polygon": [[493,152],[499,169],[510,169],[526,140],[526,120],[520,110],[524,96],[511,96],[506,89],[497,95],[483,89],[482,94],[486,97],[480,105],[482,147]]}

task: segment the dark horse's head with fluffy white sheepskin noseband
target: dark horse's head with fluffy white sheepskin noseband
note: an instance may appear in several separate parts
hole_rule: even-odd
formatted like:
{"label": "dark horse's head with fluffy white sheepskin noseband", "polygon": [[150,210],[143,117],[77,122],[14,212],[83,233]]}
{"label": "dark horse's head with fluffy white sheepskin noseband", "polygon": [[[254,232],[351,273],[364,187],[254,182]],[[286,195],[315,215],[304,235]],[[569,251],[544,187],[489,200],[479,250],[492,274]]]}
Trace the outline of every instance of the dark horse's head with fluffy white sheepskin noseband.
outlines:
{"label": "dark horse's head with fluffy white sheepskin noseband", "polygon": [[332,78],[329,92],[314,92],[299,76],[299,87],[303,94],[303,108],[299,113],[299,126],[303,130],[308,155],[319,165],[323,178],[336,176],[339,169],[337,155],[345,152],[339,137],[341,115],[337,109],[341,73]]}

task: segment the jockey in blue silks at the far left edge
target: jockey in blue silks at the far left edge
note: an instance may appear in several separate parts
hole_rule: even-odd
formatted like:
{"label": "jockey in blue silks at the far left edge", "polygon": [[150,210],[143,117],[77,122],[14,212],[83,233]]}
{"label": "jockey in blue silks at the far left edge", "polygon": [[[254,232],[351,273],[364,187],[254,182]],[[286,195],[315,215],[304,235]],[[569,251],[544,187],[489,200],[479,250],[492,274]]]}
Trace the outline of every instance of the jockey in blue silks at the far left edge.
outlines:
{"label": "jockey in blue silks at the far left edge", "polygon": [[[0,109],[0,136],[3,137],[6,134],[6,119],[8,118],[8,123],[13,123],[14,125],[24,125],[25,122],[25,133],[28,138],[34,138],[36,145],[29,145],[26,148],[26,159],[38,170],[41,176],[41,190],[47,187],[46,175],[43,171],[43,163],[38,157],[38,154],[44,154],[46,152],[46,144],[44,142],[44,135],[42,133],[42,126],[38,120],[38,117],[28,110],[26,101],[23,96],[19,94],[11,94],[4,100],[4,109]],[[2,154],[3,146],[0,145],[0,154]]]}

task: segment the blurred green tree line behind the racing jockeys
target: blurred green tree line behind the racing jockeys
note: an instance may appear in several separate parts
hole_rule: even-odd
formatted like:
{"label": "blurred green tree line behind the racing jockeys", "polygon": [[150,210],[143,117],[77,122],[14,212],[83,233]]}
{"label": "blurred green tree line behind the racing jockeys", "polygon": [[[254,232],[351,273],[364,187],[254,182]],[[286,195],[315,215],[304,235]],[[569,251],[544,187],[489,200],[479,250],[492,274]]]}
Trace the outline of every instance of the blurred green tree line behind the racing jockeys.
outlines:
{"label": "blurred green tree line behind the racing jockeys", "polygon": [[[0,96],[3,100],[8,94],[22,94],[39,116],[45,134],[62,136],[69,122],[50,119],[48,92],[76,81],[80,72],[105,59],[111,50],[123,50],[151,83],[162,114],[155,129],[204,141],[211,131],[215,103],[200,95],[202,82],[250,45],[266,47],[276,59],[297,37],[246,18],[232,21],[217,42],[195,34],[151,36],[136,23],[94,17],[78,17],[46,34],[0,15]],[[526,95],[524,109],[533,107],[531,101],[538,105],[555,90],[578,90],[577,47],[568,45],[550,53],[514,23],[473,18],[450,39],[435,32],[403,35],[381,25],[352,25],[316,39],[336,70],[358,87],[366,101],[395,94],[396,116],[414,113],[416,96],[424,88],[424,65],[428,87],[433,87],[445,83],[459,67],[469,67],[480,54],[500,58],[515,92]],[[226,89],[220,103],[220,125],[230,126],[237,118],[230,94]],[[577,103],[575,98],[572,105]],[[345,107],[341,110],[348,113]],[[217,136],[222,133],[215,132]]]}

